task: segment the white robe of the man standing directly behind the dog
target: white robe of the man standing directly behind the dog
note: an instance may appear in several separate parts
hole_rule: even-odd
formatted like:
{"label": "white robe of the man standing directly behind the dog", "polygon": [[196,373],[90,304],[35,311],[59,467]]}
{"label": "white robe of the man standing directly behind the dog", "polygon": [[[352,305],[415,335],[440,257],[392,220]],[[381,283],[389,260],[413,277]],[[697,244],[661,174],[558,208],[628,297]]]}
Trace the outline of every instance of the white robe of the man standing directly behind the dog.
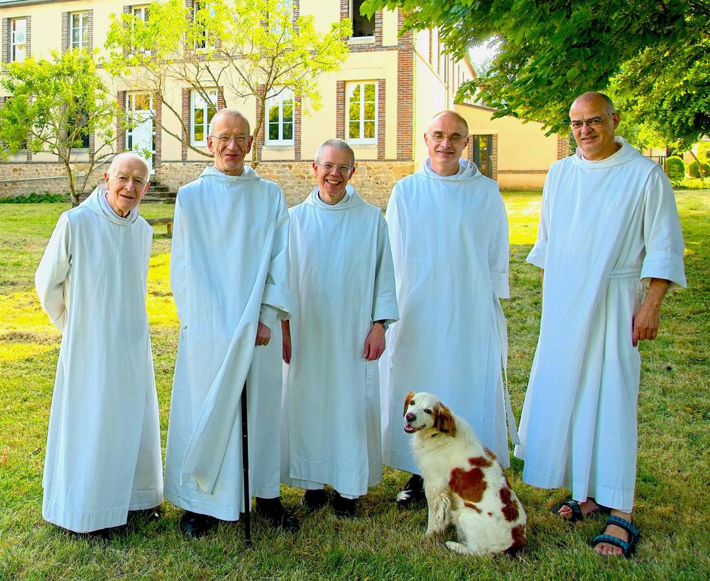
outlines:
{"label": "white robe of the man standing directly behind the dog", "polygon": [[443,177],[430,160],[395,183],[387,212],[400,321],[380,360],[384,462],[417,472],[403,430],[408,391],[429,391],[509,464],[503,385],[508,219],[498,184],[474,163]]}

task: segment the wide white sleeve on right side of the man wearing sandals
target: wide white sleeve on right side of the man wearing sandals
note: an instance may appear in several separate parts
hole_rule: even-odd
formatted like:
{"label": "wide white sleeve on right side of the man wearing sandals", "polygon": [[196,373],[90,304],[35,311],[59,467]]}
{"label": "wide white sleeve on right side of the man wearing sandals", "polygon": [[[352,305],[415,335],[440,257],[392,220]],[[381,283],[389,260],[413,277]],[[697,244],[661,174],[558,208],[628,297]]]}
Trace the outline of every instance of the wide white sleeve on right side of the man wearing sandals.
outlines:
{"label": "wide white sleeve on right side of the man wearing sandals", "polygon": [[670,281],[669,290],[685,288],[683,234],[670,180],[659,169],[652,171],[646,185],[643,215],[643,241],[646,256],[641,267],[641,282],[651,278]]}

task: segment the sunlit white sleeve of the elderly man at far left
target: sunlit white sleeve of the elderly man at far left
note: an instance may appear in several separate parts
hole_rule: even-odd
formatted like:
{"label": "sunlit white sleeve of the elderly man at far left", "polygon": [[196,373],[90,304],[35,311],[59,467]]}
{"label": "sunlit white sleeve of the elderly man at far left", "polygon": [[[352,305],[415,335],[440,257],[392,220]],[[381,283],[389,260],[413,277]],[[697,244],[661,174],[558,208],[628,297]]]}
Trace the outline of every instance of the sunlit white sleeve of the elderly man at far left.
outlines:
{"label": "sunlit white sleeve of the elderly man at far left", "polygon": [[35,273],[35,288],[49,320],[63,331],[67,320],[65,283],[72,266],[72,232],[67,212],[58,219]]}

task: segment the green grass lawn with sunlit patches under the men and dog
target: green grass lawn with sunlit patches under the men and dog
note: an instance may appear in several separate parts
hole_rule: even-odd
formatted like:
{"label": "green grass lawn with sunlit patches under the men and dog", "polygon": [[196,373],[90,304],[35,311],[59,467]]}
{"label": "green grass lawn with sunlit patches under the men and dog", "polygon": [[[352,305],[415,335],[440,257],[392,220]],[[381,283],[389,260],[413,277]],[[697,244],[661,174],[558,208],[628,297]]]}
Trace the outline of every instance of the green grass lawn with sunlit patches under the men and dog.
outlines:
{"label": "green grass lawn with sunlit patches under the men and dog", "polygon": [[[540,316],[539,274],[525,264],[535,240],[539,192],[506,192],[510,220],[510,395],[520,416]],[[386,469],[359,518],[324,510],[305,514],[300,490],[283,487],[302,521],[297,536],[253,523],[254,548],[243,548],[239,523],[198,540],[183,538],[181,511],[131,520],[109,540],[77,538],[43,521],[42,468],[60,335],[50,327],[33,275],[62,204],[0,206],[0,580],[63,579],[659,579],[710,576],[709,381],[710,190],[678,192],[686,241],[687,291],[672,293],[661,332],[642,345],[635,521],[642,538],[632,560],[599,558],[588,541],[603,518],[569,526],[550,513],[563,490],[533,489],[508,471],[528,511],[528,547],[520,558],[461,558],[444,538],[422,540],[426,510],[398,511],[392,499],[408,475]],[[173,208],[146,204],[146,217]],[[156,227],[148,281],[155,375],[163,443],[178,321],[168,284],[170,239]],[[550,442],[554,445],[554,442]],[[452,536],[453,532],[449,533]]]}

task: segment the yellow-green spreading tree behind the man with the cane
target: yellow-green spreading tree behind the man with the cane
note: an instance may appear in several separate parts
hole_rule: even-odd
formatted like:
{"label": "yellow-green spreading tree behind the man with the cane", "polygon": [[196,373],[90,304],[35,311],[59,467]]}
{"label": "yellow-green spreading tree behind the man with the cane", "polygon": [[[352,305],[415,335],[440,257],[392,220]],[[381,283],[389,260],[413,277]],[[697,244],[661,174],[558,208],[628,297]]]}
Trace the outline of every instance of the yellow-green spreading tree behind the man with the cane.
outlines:
{"label": "yellow-green spreading tree behind the man with the cane", "polygon": [[[181,131],[162,124],[163,131],[209,155],[190,144],[181,103],[173,102],[170,93],[176,85],[197,91],[212,111],[217,109],[215,89],[226,106],[227,93],[239,101],[254,97],[261,111],[253,126],[255,139],[272,95],[290,89],[312,109],[320,107],[317,78],[345,60],[351,34],[347,19],[320,34],[312,16],[293,18],[286,0],[210,0],[196,6],[187,9],[182,0],[153,2],[147,21],[124,14],[114,16],[109,28],[107,69],[133,89],[160,99],[163,111],[180,122]],[[254,148],[255,167],[257,156]]]}

